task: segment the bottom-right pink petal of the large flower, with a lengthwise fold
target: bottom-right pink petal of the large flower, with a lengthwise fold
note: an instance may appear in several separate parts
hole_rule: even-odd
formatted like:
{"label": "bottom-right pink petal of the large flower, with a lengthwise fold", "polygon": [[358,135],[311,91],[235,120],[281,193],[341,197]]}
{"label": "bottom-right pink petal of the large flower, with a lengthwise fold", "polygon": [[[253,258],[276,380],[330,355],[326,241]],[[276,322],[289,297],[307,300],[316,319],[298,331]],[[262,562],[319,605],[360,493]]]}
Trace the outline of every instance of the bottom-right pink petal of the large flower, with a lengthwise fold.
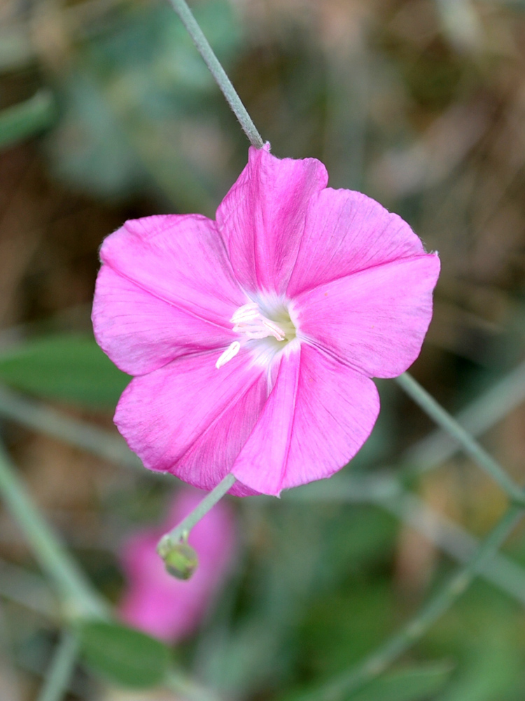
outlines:
{"label": "bottom-right pink petal of the large flower, with a lengthwise fold", "polygon": [[372,380],[302,344],[283,355],[260,419],[233,474],[262,494],[330,477],[353,458],[374,426]]}

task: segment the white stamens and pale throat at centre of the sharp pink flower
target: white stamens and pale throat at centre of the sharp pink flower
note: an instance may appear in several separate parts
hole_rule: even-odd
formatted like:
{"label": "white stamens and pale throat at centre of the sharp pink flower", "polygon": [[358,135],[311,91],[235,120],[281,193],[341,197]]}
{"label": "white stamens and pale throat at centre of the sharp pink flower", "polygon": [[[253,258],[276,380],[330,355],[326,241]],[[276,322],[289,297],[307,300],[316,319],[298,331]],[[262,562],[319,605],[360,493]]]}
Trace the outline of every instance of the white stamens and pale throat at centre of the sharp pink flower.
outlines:
{"label": "white stamens and pale throat at centre of the sharp pink flower", "polygon": [[215,367],[225,365],[241,350],[241,343],[246,341],[261,341],[265,346],[272,346],[274,351],[293,341],[296,335],[295,325],[290,319],[288,309],[282,303],[271,307],[257,302],[248,302],[239,307],[230,321],[233,330],[239,334],[239,341],[233,341],[218,358]]}

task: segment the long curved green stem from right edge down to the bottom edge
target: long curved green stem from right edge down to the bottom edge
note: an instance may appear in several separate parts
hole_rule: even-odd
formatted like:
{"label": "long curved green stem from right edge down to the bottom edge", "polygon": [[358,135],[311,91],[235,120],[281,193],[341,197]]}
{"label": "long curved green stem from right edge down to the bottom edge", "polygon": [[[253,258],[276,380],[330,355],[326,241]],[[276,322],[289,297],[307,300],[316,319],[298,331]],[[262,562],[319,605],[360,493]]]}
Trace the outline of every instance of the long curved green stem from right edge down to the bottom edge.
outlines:
{"label": "long curved green stem from right edge down to the bottom edge", "polygon": [[314,692],[304,694],[297,701],[344,701],[367,682],[372,681],[411,648],[463,594],[487,559],[493,556],[505,538],[517,524],[523,511],[511,506],[489,536],[479,546],[469,562],[434,595],[421,611],[405,624],[399,632],[388,639],[374,653],[356,667],[344,672]]}

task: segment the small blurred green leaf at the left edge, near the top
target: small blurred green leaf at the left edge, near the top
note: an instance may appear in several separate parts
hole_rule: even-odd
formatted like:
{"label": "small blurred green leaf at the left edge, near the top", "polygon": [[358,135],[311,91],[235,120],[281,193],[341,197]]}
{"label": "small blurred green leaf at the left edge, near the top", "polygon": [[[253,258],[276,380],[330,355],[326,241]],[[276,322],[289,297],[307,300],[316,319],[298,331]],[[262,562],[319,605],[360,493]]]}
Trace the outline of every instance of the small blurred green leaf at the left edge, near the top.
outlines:
{"label": "small blurred green leaf at the left edge, near the top", "polygon": [[57,107],[50,90],[38,90],[29,100],[0,112],[0,148],[16,144],[54,123]]}

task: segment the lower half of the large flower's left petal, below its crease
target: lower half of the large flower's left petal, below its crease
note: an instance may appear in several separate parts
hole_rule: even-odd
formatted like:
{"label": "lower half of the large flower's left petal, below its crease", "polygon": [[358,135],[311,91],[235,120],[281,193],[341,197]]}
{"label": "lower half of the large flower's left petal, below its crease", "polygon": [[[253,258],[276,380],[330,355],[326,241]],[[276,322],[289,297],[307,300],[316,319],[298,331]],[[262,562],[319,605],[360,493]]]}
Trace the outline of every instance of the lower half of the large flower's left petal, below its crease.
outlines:
{"label": "lower half of the large flower's left petal, below its crease", "polygon": [[231,328],[169,304],[106,264],[97,278],[92,321],[104,353],[131,375],[152,372],[188,351],[221,349],[236,338]]}

